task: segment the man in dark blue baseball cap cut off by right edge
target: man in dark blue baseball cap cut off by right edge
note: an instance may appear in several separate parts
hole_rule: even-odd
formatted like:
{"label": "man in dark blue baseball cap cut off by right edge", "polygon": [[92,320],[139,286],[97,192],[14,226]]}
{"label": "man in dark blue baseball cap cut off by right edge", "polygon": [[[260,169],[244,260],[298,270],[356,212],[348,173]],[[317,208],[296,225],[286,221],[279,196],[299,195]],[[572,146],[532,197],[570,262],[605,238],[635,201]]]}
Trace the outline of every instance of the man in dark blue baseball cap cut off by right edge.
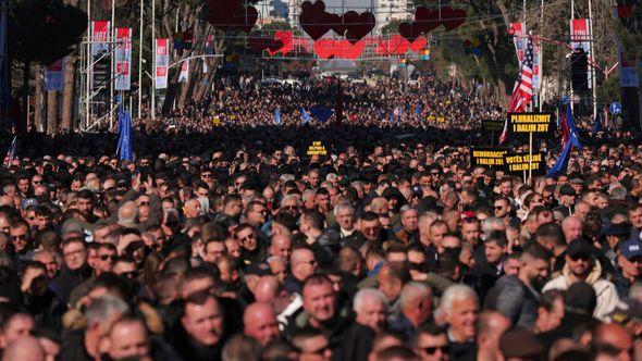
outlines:
{"label": "man in dark blue baseball cap cut off by right edge", "polygon": [[629,288],[642,275],[642,242],[628,239],[619,244],[618,258],[613,283],[620,298],[627,297]]}

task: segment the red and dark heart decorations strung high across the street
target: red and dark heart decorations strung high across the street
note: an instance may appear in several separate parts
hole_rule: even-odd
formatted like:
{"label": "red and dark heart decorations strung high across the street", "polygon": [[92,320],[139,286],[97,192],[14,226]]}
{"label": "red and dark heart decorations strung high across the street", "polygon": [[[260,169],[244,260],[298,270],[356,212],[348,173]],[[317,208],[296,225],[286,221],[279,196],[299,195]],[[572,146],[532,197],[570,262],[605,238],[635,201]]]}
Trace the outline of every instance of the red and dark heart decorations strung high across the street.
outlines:
{"label": "red and dark heart decorations strung high across the street", "polygon": [[[208,1],[207,20],[222,32],[237,29],[249,34],[258,21],[257,9],[244,4],[243,0]],[[356,59],[366,46],[374,41],[378,42],[378,54],[400,54],[408,50],[419,51],[425,46],[427,40],[422,35],[428,35],[440,26],[450,32],[466,23],[467,17],[466,10],[449,5],[437,9],[418,7],[413,15],[413,20],[400,23],[398,34],[391,38],[373,38],[369,36],[375,26],[372,12],[358,13],[350,10],[343,14],[333,14],[325,10],[322,0],[305,1],[301,4],[299,25],[313,41],[313,46],[306,46],[309,40],[294,37],[292,32],[276,32],[272,38],[251,37],[248,38],[248,45],[258,51],[267,50],[270,55],[279,52],[286,54],[299,45],[306,50],[313,50],[321,59]],[[330,32],[343,39],[323,38]]]}

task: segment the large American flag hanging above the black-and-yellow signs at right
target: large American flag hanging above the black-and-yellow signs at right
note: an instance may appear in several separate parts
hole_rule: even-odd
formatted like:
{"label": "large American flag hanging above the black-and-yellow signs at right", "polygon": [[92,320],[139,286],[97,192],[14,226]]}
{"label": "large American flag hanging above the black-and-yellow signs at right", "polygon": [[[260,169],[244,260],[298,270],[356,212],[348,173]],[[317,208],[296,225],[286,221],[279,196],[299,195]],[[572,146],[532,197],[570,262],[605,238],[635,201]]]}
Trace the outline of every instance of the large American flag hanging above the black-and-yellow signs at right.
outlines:
{"label": "large American flag hanging above the black-and-yellow signs at right", "polygon": [[[533,97],[533,38],[529,36],[527,41],[526,52],[523,54],[523,62],[519,77],[515,83],[513,89],[513,97],[510,97],[510,104],[508,105],[508,113],[521,113],[526,110],[526,105]],[[508,119],[504,122],[504,129],[499,137],[499,144],[503,144],[507,138]]]}

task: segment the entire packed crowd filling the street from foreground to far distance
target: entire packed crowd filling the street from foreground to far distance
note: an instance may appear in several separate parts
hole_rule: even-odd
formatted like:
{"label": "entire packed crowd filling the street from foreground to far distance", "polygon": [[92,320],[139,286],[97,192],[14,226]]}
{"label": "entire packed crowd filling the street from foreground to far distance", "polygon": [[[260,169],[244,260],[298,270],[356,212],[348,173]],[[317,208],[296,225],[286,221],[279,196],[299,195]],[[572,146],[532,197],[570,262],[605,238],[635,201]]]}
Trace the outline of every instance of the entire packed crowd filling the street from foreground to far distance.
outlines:
{"label": "entire packed crowd filling the street from foreground to far distance", "polygon": [[431,82],[344,86],[337,126],[300,125],[335,85],[242,80],[139,123],[134,161],[113,135],[24,137],[0,171],[2,360],[640,359],[639,141],[583,134],[557,178],[471,167],[501,111]]}

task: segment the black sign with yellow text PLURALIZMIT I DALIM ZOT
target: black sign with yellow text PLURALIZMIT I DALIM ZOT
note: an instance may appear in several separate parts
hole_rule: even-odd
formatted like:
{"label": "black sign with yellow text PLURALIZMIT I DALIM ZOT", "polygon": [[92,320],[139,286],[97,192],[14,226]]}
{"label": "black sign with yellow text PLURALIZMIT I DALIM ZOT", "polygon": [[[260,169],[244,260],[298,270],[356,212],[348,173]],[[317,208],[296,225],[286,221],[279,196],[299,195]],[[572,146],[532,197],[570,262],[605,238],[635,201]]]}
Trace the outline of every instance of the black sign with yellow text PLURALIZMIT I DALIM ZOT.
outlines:
{"label": "black sign with yellow text PLURALIZMIT I DALIM ZOT", "polygon": [[538,139],[553,138],[555,135],[555,114],[508,113],[508,139],[529,141],[531,134]]}

